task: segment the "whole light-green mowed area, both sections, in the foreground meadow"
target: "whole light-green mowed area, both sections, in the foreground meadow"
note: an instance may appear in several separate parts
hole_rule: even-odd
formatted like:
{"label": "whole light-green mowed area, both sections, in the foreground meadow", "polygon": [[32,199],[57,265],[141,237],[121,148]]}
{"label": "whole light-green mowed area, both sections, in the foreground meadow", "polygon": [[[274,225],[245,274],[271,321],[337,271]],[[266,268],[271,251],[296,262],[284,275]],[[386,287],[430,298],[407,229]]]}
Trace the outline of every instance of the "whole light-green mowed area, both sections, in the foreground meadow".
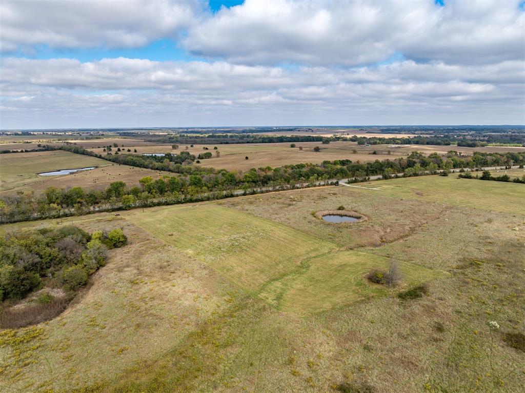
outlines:
{"label": "whole light-green mowed area, both sections, in the foreground meadow", "polygon": [[[174,206],[134,214],[133,221],[283,311],[316,313],[392,292],[364,278],[386,269],[388,258],[338,252],[330,242],[237,210]],[[442,275],[410,263],[401,269],[408,285]]]}

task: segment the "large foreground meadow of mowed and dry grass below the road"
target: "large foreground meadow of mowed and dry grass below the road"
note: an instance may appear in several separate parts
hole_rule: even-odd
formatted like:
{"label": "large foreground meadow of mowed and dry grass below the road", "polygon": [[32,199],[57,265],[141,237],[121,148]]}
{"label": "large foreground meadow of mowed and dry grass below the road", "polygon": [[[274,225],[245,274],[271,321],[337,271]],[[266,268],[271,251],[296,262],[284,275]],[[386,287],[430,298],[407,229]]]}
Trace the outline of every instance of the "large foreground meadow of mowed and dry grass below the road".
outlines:
{"label": "large foreground meadow of mowed and dry grass below the road", "polygon": [[[455,175],[357,185],[379,190],[340,185],[1,226],[121,228],[128,245],[110,250],[64,313],[0,332],[0,386],[523,391],[525,348],[510,337],[525,332],[525,187]],[[367,220],[312,214],[340,206]],[[397,286],[367,280],[391,262]]]}

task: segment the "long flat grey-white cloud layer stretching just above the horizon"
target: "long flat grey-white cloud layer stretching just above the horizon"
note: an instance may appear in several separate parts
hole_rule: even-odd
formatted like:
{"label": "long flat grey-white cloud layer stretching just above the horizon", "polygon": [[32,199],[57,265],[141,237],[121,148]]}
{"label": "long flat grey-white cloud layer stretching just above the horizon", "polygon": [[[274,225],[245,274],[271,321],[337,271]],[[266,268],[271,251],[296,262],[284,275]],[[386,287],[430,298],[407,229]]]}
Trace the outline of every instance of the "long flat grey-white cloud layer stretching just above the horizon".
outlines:
{"label": "long flat grey-white cloud layer stretching just above the horizon", "polygon": [[326,122],[320,118],[340,124],[429,123],[459,116],[475,123],[503,118],[519,123],[524,67],[516,60],[476,67],[407,60],[286,69],[223,61],[7,58],[1,88],[8,125],[20,113],[45,121],[72,114],[125,123],[147,117],[155,124],[171,119],[171,125],[183,119],[187,125]]}

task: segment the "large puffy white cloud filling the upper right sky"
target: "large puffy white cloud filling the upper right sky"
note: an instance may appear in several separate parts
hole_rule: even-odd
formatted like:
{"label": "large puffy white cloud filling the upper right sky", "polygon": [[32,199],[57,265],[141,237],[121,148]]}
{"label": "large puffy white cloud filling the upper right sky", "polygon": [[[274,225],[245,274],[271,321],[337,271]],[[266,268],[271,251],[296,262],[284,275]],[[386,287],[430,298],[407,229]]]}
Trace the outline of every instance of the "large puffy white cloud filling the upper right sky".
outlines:
{"label": "large puffy white cloud filling the upper right sky", "polygon": [[519,1],[246,0],[190,29],[192,53],[242,64],[363,65],[410,59],[487,64],[522,59]]}

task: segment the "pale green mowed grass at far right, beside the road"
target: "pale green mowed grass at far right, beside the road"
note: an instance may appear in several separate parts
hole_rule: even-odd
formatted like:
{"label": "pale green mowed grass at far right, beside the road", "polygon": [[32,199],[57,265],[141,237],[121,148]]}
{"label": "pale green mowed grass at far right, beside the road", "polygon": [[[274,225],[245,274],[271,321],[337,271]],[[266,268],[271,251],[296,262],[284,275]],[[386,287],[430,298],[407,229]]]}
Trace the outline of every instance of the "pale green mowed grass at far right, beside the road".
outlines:
{"label": "pale green mowed grass at far right, beside the road", "polygon": [[[493,175],[501,175],[494,172]],[[351,188],[363,193],[381,192],[385,196],[418,199],[505,213],[523,211],[525,185],[477,179],[458,179],[457,175],[421,176],[360,183],[381,191]],[[350,188],[349,188],[350,189]]]}

